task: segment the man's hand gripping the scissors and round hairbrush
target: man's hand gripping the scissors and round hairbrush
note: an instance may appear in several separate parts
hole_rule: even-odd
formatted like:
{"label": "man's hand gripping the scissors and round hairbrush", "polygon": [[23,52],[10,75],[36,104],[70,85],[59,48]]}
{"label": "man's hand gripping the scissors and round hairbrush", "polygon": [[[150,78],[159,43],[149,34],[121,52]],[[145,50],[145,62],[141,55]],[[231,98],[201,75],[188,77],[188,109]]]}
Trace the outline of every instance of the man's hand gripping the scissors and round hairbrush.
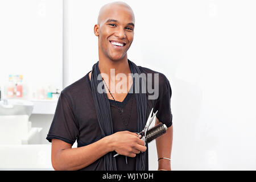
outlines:
{"label": "man's hand gripping the scissors and round hairbrush", "polygon": [[138,137],[137,133],[119,131],[109,135],[109,137],[112,142],[112,151],[116,151],[120,155],[135,158],[136,154],[147,150],[147,147],[144,146],[144,141],[141,139],[141,135]]}

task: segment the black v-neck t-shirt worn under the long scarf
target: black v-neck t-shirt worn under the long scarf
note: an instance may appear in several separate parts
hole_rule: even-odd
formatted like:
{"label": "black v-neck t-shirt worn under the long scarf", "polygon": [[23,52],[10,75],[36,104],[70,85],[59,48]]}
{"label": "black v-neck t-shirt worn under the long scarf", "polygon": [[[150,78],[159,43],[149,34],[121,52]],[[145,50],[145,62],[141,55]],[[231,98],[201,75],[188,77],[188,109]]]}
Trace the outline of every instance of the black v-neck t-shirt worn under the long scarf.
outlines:
{"label": "black v-neck t-shirt worn under the long scarf", "polygon": [[[156,117],[159,119],[159,121],[166,124],[167,127],[170,127],[172,125],[172,92],[170,82],[168,81],[167,77],[163,75],[163,73],[152,71],[151,69],[140,66],[138,68],[146,75],[147,73],[152,73],[151,80],[153,82],[153,87],[154,74],[159,74],[158,98],[155,100],[148,100],[148,96],[152,96],[154,93],[149,94],[147,90],[147,113],[149,115],[152,107],[154,106],[154,113],[156,110],[158,110]],[[112,111],[111,115],[114,133],[127,130],[125,125],[123,125],[121,115],[118,113],[118,107],[115,104],[115,101],[109,99],[109,102],[110,109]],[[133,93],[128,93],[123,102],[117,101],[119,108],[123,110],[125,122],[127,122],[131,102],[133,102],[131,108],[131,119],[127,125],[127,128],[129,131],[134,133],[140,132],[137,131],[138,114],[135,95],[133,97]],[[151,126],[153,125],[154,123],[152,123]],[[60,139],[72,145],[77,140],[77,147],[82,147],[97,142],[97,140],[100,140],[101,138],[101,130],[100,126],[98,125],[88,72],[80,80],[67,86],[60,93],[53,121],[46,139],[49,142],[51,142],[52,139]],[[148,170],[148,148],[146,151],[146,156],[146,170]],[[126,164],[125,156],[118,155],[116,157],[117,169],[123,171],[135,171],[136,159],[137,157],[128,157],[128,164]],[[96,160],[96,162],[82,168],[81,170],[104,170],[103,156]]]}

